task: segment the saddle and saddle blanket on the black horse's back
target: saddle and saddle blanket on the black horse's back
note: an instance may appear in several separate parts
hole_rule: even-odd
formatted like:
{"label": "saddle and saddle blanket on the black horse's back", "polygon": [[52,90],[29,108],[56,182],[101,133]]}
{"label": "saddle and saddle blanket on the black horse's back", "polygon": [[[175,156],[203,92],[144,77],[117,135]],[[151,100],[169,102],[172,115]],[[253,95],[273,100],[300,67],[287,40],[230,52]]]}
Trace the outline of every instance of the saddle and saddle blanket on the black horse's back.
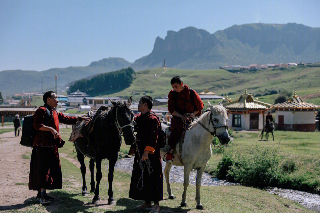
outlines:
{"label": "saddle and saddle blanket on the black horse's back", "polygon": [[85,125],[85,121],[77,121],[72,125],[71,135],[68,141],[76,141],[78,138],[87,137],[93,130],[93,126],[102,111],[109,110],[107,106],[101,106],[98,110],[93,109],[80,115],[79,117],[90,117],[92,120]]}

